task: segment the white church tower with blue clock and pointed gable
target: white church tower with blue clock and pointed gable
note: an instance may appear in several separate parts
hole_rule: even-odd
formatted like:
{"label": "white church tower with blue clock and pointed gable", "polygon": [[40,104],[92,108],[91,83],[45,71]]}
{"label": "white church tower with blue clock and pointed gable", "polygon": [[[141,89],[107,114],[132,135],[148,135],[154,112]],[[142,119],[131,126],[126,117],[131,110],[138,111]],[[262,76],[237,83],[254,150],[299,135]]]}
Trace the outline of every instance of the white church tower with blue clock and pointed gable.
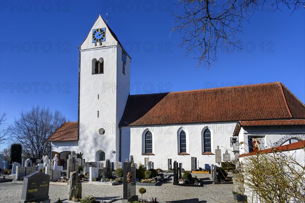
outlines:
{"label": "white church tower with blue clock and pointed gable", "polygon": [[101,15],[79,52],[79,151],[86,162],[118,161],[131,58]]}

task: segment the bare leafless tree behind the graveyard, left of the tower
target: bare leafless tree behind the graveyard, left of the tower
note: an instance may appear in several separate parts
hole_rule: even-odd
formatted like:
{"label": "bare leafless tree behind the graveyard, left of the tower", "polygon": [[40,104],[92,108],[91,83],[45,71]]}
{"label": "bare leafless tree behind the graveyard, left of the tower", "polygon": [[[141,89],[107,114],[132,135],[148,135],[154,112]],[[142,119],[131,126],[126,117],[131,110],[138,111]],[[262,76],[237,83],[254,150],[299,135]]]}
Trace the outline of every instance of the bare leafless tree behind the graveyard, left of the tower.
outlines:
{"label": "bare leafless tree behind the graveyard, left of the tower", "polygon": [[29,112],[22,111],[10,132],[13,139],[21,143],[24,156],[40,158],[49,154],[49,136],[65,122],[65,116],[59,111],[53,113],[49,108],[36,106]]}

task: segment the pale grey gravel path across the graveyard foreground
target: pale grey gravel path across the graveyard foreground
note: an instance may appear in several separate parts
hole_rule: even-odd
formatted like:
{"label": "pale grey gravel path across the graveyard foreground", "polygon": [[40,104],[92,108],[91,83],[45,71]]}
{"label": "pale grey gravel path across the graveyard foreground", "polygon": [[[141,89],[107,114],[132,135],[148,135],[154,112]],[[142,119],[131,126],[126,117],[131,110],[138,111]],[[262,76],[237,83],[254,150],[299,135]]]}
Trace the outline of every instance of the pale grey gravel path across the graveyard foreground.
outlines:
{"label": "pale grey gravel path across the graveyard foreground", "polygon": [[[200,175],[198,178],[208,178],[209,175]],[[232,195],[232,185],[207,184],[204,187],[182,187],[176,186],[171,182],[164,183],[161,186],[136,186],[137,195],[141,197],[138,189],[144,187],[146,193],[143,198],[157,197],[159,201],[168,201],[172,203],[203,203],[203,202],[235,202]],[[22,184],[18,183],[0,183],[0,202],[18,203],[21,197]],[[115,197],[115,203],[121,202],[123,198],[123,185],[105,186],[90,183],[82,184],[82,195],[93,195],[97,197]],[[66,199],[68,196],[67,185],[50,185],[49,196],[51,202],[60,199]]]}

